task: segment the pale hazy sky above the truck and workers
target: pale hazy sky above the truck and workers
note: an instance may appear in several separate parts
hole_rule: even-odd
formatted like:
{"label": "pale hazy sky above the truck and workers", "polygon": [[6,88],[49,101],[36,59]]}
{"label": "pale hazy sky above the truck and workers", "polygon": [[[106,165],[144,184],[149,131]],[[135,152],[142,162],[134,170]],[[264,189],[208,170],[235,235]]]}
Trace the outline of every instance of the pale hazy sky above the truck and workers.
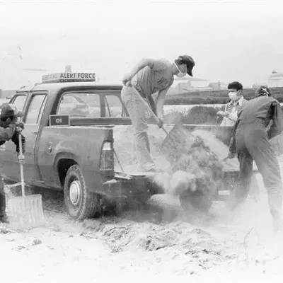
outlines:
{"label": "pale hazy sky above the truck and workers", "polygon": [[[211,82],[267,83],[283,72],[283,1],[1,1],[0,88],[43,74],[121,81],[142,58],[180,54]],[[27,71],[25,69],[45,69]]]}

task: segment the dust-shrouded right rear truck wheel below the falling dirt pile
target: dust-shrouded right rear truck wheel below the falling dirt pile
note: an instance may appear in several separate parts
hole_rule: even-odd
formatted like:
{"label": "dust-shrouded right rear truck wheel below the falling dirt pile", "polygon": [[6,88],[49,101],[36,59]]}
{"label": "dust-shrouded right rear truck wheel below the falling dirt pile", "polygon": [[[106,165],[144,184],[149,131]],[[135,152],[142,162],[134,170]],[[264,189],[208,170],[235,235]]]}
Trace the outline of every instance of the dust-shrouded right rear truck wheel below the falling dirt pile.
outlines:
{"label": "dust-shrouded right rear truck wheel below the falling dirt pile", "polygon": [[194,211],[207,214],[212,207],[212,197],[202,194],[200,191],[185,191],[180,197],[180,204],[186,211]]}

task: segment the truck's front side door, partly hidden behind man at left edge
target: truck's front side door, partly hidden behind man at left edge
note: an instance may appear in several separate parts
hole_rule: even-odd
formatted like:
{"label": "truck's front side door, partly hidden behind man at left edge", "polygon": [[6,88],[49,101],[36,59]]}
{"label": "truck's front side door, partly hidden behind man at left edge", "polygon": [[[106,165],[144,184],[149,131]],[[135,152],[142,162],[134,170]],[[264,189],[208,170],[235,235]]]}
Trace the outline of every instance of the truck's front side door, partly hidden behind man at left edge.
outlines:
{"label": "truck's front side door, partly hidden behind man at left edge", "polygon": [[[16,94],[10,101],[7,101],[7,103],[13,103],[18,110],[23,110],[27,97],[28,93]],[[0,146],[0,155],[1,174],[8,180],[18,180],[15,179],[15,173],[13,172],[14,169],[20,172],[16,158],[16,145],[13,141],[6,141],[5,144]]]}

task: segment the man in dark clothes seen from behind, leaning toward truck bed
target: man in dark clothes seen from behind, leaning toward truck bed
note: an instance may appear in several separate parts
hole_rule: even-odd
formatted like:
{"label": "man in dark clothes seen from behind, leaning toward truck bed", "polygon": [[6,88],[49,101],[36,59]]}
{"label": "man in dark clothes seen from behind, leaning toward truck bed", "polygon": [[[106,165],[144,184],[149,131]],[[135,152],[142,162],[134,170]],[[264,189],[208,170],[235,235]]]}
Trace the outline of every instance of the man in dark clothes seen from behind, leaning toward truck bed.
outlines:
{"label": "man in dark clothes seen from behind, leaning toward truck bed", "polygon": [[[270,129],[267,127],[272,125]],[[269,139],[283,131],[282,110],[279,102],[271,97],[269,88],[260,87],[256,97],[244,103],[238,110],[238,119],[233,128],[230,156],[238,154],[240,173],[233,192],[231,208],[248,197],[253,161],[258,166],[267,188],[270,212],[275,231],[282,228],[282,180],[279,163]]]}

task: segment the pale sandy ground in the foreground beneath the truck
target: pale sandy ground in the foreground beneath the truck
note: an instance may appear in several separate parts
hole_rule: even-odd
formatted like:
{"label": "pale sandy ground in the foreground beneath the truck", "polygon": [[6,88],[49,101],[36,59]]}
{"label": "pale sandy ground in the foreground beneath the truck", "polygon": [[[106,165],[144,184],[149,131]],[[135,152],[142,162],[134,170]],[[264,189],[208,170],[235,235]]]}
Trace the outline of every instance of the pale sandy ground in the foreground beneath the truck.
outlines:
{"label": "pale sandy ground in the foreground beneath the truck", "polygon": [[[281,237],[272,234],[261,189],[238,214],[215,202],[211,215],[193,224],[178,200],[159,195],[149,209],[120,216],[78,223],[64,209],[45,210],[44,226],[2,225],[1,282],[276,282],[283,275]],[[44,205],[54,209],[51,199]]]}

